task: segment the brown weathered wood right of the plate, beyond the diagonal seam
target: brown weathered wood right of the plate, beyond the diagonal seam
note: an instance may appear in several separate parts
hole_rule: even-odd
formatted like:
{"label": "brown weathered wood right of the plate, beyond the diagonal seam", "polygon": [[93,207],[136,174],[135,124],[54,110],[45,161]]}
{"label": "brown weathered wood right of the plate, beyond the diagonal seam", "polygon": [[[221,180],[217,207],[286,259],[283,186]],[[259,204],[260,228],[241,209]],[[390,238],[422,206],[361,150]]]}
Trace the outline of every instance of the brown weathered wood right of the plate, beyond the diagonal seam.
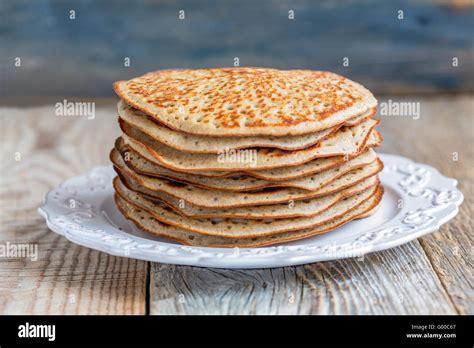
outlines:
{"label": "brown weathered wood right of the plate, beyond the diagonal seam", "polygon": [[458,180],[465,197],[458,216],[440,231],[421,238],[420,243],[457,311],[474,314],[474,98],[410,100],[421,103],[421,117],[381,117],[381,150],[430,164]]}

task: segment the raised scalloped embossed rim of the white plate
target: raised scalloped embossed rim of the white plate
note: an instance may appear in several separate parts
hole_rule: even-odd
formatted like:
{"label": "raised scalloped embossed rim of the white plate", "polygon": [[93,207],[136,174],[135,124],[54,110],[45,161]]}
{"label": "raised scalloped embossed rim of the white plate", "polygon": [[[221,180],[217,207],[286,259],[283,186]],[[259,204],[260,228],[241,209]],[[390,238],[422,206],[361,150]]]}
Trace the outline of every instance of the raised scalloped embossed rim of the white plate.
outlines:
{"label": "raised scalloped embossed rim of the white plate", "polygon": [[[384,168],[384,171],[381,173],[381,177],[384,176],[384,173],[386,173],[387,171],[390,171],[390,166],[393,166],[394,162],[402,162],[403,164],[414,165],[417,168],[424,168],[426,172],[430,173],[429,174],[430,176],[435,176],[438,180],[445,181],[447,184],[449,183],[449,187],[448,187],[450,189],[449,192],[454,192],[454,194],[457,195],[457,197],[455,197],[456,199],[454,199],[452,202],[445,203],[446,206],[443,210],[446,211],[446,213],[440,217],[437,217],[434,223],[430,223],[429,225],[425,227],[414,228],[414,230],[411,231],[410,233],[403,236],[399,236],[398,238],[395,238],[395,239],[388,239],[386,241],[379,241],[375,244],[372,243],[372,244],[364,245],[363,249],[361,250],[361,253],[358,254],[358,256],[362,256],[362,255],[376,252],[376,251],[387,250],[399,245],[403,245],[416,238],[419,238],[423,235],[426,235],[428,233],[438,230],[441,225],[445,224],[446,222],[448,222],[449,220],[451,220],[457,215],[457,213],[459,212],[459,206],[462,204],[463,199],[464,199],[462,193],[456,188],[458,181],[454,178],[448,178],[448,177],[443,176],[436,168],[427,164],[415,163],[413,160],[406,157],[399,156],[399,155],[384,154],[384,153],[379,153],[378,155],[381,157],[382,161],[385,164],[385,168]],[[144,244],[146,243],[150,244],[148,249],[130,248],[127,250],[126,248],[120,249],[119,244],[109,245],[106,242],[100,243],[100,241],[98,242],[97,240],[98,236],[96,236],[96,238],[85,238],[83,235],[78,236],[77,231],[76,233],[74,233],[74,230],[72,231],[68,230],[65,227],[59,226],[57,223],[54,223],[52,221],[51,215],[55,209],[57,210],[60,207],[53,206],[53,203],[52,203],[53,192],[57,192],[58,190],[62,188],[69,187],[69,185],[73,183],[74,181],[81,180],[82,178],[84,178],[85,176],[91,173],[96,173],[96,172],[101,172],[101,171],[112,171],[111,166],[110,165],[97,166],[78,176],[68,178],[67,180],[62,182],[58,187],[56,187],[53,190],[50,190],[46,194],[43,200],[43,204],[38,208],[38,212],[46,220],[46,224],[48,228],[50,228],[55,233],[58,233],[66,237],[68,240],[70,240],[73,243],[82,245],[84,247],[89,247],[95,250],[99,250],[102,252],[106,252],[114,256],[131,257],[131,258],[141,259],[145,261],[168,263],[168,264],[179,264],[179,265],[190,265],[190,266],[199,266],[199,267],[240,268],[240,269],[242,268],[270,268],[270,267],[294,266],[294,265],[301,265],[301,264],[312,263],[312,262],[328,261],[328,260],[343,259],[343,258],[350,257],[350,256],[345,256],[345,255],[334,257],[327,254],[324,255],[320,253],[318,254],[318,253],[311,253],[311,252],[306,252],[301,255],[298,255],[298,254],[291,255],[292,250],[296,250],[297,248],[300,248],[301,246],[291,246],[291,245],[286,246],[285,244],[279,245],[279,246],[267,246],[267,247],[260,247],[260,248],[241,248],[241,249],[237,248],[239,252],[236,254],[235,253],[236,248],[227,249],[227,248],[192,247],[192,246],[183,246],[183,245],[174,244],[174,243],[153,241],[146,238],[142,238],[140,236],[128,234],[125,231],[119,231],[117,228],[113,226],[107,226],[107,229],[109,230],[115,229],[115,231],[113,231],[113,234],[110,234],[111,238],[120,239],[121,238],[120,235],[125,234],[128,236],[130,240],[135,240]],[[383,182],[383,184],[390,186],[397,193],[403,194],[403,190],[400,187],[397,187],[396,185],[393,186],[393,183],[392,185],[390,185],[386,182]],[[111,189],[110,182],[107,182],[107,185]],[[402,214],[403,214],[403,209],[401,209],[395,216],[393,216],[390,221],[383,223],[381,226],[389,225],[389,222],[395,219],[398,219]],[[367,231],[364,232],[364,235],[375,233],[376,230],[380,231],[383,229],[380,229],[380,226],[369,228]],[[107,236],[107,231],[104,230],[104,232],[105,232],[104,236]],[[114,236],[114,234],[117,234],[117,233],[119,234],[119,236]],[[123,238],[126,239],[127,236],[124,236]],[[91,245],[91,243],[93,243],[94,245]],[[156,249],[168,248],[169,250],[168,252],[160,253],[158,251],[155,253],[150,253],[149,252],[150,249],[155,250],[154,248]],[[283,250],[286,250],[285,251],[286,254],[290,253],[290,255],[282,255]],[[180,252],[186,252],[186,253],[185,255],[179,255]],[[250,255],[246,255],[244,258],[240,257],[242,254],[246,254],[248,252],[250,252]],[[272,252],[274,255],[272,255]],[[200,253],[203,253],[203,255],[199,255]],[[282,258],[282,256],[285,256],[285,257]]]}

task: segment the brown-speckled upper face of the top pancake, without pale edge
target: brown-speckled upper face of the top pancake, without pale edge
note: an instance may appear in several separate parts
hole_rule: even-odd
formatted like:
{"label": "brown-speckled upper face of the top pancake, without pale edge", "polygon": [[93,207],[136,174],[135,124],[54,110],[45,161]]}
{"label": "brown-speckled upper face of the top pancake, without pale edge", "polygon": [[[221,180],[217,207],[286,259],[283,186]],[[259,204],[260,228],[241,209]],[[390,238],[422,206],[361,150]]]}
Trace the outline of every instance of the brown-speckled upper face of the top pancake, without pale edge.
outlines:
{"label": "brown-speckled upper face of the top pancake, without pale edge", "polygon": [[[163,70],[127,82],[129,91],[169,115],[216,128],[291,127],[324,120],[363,99],[340,75],[263,68]],[[315,106],[318,106],[315,109]]]}

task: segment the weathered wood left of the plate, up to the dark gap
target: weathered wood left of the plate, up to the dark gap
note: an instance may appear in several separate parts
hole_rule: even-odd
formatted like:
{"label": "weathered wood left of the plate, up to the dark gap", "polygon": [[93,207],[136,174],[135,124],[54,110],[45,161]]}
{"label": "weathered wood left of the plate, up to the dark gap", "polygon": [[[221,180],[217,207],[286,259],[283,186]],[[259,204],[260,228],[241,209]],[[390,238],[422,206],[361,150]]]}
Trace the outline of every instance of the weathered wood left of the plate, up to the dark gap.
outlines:
{"label": "weathered wood left of the plate, up to the dark gap", "polygon": [[146,262],[70,243],[36,211],[47,190],[106,163],[118,132],[112,104],[94,120],[55,116],[53,105],[1,109],[0,243],[35,244],[39,255],[0,259],[0,313],[143,314]]}

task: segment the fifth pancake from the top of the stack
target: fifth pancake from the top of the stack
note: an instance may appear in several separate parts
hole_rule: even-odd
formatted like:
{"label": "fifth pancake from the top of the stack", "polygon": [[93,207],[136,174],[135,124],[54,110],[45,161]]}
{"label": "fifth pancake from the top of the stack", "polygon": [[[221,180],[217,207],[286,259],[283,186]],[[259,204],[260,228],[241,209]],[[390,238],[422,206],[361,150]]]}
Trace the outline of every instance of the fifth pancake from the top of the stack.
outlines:
{"label": "fifth pancake from the top of the stack", "polygon": [[377,174],[383,168],[382,162],[377,160],[365,167],[344,174],[316,191],[296,188],[269,188],[256,192],[229,192],[208,190],[172,180],[148,177],[130,170],[120,156],[114,160],[117,161],[114,164],[116,172],[120,175],[122,181],[125,181],[127,187],[130,187],[132,190],[152,197],[157,191],[165,192],[193,205],[208,208],[267,205],[323,196],[355,185]]}

